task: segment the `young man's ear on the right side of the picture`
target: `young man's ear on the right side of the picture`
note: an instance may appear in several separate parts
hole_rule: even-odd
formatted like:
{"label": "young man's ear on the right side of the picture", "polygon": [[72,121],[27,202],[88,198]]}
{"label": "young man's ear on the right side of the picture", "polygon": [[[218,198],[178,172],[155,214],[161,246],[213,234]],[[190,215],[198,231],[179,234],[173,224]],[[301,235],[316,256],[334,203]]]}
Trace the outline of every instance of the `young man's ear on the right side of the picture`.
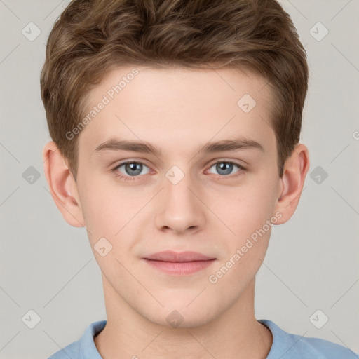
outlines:
{"label": "young man's ear on the right side of the picture", "polygon": [[297,209],[308,170],[308,149],[304,144],[297,144],[292,156],[285,161],[283,177],[280,178],[280,191],[275,212],[280,212],[282,217],[276,224],[287,222]]}

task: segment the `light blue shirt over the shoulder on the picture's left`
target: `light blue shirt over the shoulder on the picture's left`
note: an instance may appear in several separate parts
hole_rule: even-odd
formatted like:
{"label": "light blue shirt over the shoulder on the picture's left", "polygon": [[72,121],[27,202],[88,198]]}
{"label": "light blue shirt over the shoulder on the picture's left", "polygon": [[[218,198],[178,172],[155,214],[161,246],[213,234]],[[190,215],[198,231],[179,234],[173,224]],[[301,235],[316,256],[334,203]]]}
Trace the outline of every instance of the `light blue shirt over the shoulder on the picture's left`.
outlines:
{"label": "light blue shirt over the shoulder on the picture's left", "polygon": [[48,359],[102,359],[97,351],[93,338],[104,329],[107,320],[91,323],[86,327],[81,338],[60,349]]}

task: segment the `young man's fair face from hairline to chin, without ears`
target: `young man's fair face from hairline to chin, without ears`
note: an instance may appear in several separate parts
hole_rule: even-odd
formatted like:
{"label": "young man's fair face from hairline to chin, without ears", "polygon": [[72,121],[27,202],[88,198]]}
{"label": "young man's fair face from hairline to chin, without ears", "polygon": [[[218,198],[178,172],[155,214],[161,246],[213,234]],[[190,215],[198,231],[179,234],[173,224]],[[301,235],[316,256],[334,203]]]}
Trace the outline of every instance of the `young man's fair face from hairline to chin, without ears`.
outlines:
{"label": "young man's fair face from hairline to chin, without ears", "polygon": [[[271,93],[234,69],[136,69],[90,93],[88,113],[105,104],[79,135],[79,205],[108,300],[203,325],[248,290],[280,218]],[[146,259],[168,250],[210,260]]]}

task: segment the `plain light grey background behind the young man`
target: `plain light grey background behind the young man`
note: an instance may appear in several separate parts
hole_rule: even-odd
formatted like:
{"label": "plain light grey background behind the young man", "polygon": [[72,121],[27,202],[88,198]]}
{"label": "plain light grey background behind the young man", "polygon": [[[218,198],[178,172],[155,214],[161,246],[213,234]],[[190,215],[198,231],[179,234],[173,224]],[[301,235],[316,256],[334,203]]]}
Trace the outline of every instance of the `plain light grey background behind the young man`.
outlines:
{"label": "plain light grey background behind the young man", "polygon": [[[311,168],[297,212],[273,227],[257,274],[256,318],[358,353],[359,1],[280,3],[309,56],[301,142],[309,147]],[[42,149],[50,137],[39,74],[50,28],[67,4],[0,0],[0,358],[47,358],[91,322],[106,319],[86,230],[62,219],[43,175]],[[33,41],[22,34],[29,22],[41,30]],[[321,41],[317,22],[329,31]],[[31,166],[40,176],[32,184],[25,179]],[[320,183],[318,170],[328,176]],[[31,320],[22,321],[30,309],[41,318],[34,329],[27,326]],[[329,318],[320,329],[310,320],[318,309],[316,325]]]}

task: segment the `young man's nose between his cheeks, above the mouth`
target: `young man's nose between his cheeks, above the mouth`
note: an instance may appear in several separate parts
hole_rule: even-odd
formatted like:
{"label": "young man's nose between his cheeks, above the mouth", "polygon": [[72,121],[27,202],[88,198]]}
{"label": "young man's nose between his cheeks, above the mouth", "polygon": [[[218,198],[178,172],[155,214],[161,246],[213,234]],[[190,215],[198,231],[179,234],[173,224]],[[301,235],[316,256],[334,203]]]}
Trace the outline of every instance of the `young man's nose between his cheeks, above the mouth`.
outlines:
{"label": "young man's nose between his cheeks, above the mouth", "polygon": [[156,227],[176,235],[195,233],[205,225],[203,194],[189,175],[175,183],[167,178],[163,181],[164,189],[156,203]]}

